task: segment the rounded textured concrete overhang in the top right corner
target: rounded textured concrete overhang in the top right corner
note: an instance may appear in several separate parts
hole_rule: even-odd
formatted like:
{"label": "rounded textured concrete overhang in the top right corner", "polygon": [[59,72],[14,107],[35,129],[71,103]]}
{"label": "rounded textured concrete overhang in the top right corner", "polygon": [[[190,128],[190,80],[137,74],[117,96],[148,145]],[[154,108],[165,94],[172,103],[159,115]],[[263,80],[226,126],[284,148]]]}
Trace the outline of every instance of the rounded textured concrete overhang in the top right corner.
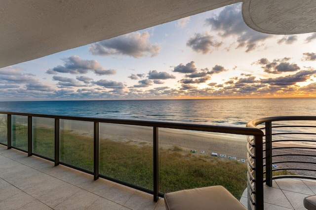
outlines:
{"label": "rounded textured concrete overhang in the top right corner", "polygon": [[244,0],[242,16],[252,29],[271,34],[316,32],[316,0]]}

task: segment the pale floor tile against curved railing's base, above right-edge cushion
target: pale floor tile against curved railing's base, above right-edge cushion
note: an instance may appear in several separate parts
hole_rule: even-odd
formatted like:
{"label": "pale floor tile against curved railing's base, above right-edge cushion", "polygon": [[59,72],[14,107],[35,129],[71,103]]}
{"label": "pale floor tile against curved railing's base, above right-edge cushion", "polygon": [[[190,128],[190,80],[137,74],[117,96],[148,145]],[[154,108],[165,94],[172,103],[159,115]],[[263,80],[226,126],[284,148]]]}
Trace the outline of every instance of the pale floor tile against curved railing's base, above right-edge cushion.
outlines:
{"label": "pale floor tile against curved railing's base, above right-edge cushion", "polygon": [[295,179],[279,179],[276,180],[277,185],[282,190],[314,195],[314,192],[304,184],[302,180]]}

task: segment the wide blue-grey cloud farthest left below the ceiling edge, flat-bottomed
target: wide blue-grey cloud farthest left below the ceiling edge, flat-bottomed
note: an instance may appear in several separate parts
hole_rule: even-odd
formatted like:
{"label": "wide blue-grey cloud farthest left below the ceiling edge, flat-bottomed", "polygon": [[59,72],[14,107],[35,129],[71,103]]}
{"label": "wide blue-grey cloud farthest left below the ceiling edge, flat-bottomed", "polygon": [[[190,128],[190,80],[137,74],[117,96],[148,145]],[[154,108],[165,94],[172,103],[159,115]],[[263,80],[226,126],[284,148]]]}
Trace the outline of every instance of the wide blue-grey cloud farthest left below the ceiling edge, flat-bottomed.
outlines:
{"label": "wide blue-grey cloud farthest left below the ceiling edge, flat-bottomed", "polygon": [[82,60],[79,56],[71,56],[62,59],[64,65],[58,65],[46,71],[47,74],[70,73],[70,74],[86,74],[93,71],[97,75],[112,75],[116,70],[105,70],[97,60]]}

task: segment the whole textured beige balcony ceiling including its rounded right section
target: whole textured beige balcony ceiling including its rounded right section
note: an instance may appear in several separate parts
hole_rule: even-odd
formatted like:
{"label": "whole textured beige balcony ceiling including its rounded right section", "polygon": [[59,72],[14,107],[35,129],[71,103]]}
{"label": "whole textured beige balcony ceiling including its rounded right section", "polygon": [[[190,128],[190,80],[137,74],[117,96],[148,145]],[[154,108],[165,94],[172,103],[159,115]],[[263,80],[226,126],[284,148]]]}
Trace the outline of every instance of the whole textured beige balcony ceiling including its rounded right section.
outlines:
{"label": "whole textured beige balcony ceiling including its rounded right section", "polygon": [[[241,0],[0,0],[0,67]],[[273,34],[316,31],[316,1],[243,0],[245,23]]]}

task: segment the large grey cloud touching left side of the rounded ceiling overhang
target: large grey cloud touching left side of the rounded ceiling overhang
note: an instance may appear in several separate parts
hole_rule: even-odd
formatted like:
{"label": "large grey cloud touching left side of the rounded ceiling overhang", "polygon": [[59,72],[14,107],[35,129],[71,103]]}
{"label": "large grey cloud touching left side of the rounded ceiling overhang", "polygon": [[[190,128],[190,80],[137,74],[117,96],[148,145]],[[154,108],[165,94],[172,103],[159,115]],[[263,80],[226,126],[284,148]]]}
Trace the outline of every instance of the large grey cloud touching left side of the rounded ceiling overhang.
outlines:
{"label": "large grey cloud touching left side of the rounded ceiling overhang", "polygon": [[240,3],[226,6],[217,17],[206,19],[206,24],[223,38],[237,37],[237,48],[246,47],[246,52],[256,49],[259,42],[272,37],[270,34],[252,30],[244,23]]}

